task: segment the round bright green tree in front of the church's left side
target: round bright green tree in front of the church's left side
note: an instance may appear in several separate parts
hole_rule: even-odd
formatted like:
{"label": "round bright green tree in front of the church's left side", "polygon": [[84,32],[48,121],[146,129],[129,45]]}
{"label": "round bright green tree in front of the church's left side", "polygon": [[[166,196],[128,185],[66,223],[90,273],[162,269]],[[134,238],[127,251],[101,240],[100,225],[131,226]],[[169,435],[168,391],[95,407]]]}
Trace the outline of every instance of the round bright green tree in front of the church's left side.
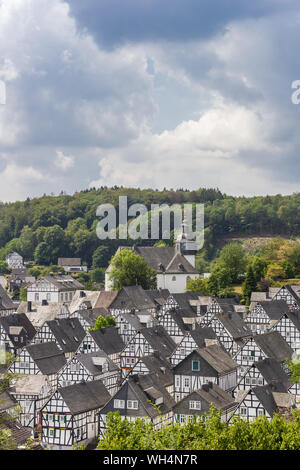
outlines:
{"label": "round bright green tree in front of the church's left side", "polygon": [[111,265],[110,279],[115,290],[137,285],[143,289],[156,289],[156,271],[132,250],[123,249],[116,253]]}

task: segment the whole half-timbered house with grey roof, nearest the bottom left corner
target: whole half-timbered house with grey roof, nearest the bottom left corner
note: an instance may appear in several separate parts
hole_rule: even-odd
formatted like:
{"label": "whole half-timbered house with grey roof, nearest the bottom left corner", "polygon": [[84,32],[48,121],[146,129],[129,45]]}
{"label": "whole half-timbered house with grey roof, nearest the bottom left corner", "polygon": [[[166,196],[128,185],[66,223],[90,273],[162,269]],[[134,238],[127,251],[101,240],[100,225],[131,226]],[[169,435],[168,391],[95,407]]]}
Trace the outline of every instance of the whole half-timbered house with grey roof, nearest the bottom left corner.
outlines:
{"label": "whole half-timbered house with grey roof, nearest the bottom left corner", "polygon": [[43,447],[70,450],[98,434],[98,413],[111,398],[101,380],[59,388],[40,412]]}

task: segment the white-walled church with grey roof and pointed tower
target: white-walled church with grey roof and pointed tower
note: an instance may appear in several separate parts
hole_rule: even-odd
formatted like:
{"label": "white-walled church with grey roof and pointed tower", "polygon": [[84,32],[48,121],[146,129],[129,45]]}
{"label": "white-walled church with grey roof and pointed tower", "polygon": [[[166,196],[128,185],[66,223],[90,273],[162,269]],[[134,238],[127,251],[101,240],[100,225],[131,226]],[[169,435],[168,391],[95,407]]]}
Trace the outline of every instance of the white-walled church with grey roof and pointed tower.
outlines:
{"label": "white-walled church with grey roof and pointed tower", "polygon": [[[196,244],[188,240],[187,233],[187,224],[184,220],[175,247],[120,246],[117,253],[123,249],[132,249],[156,271],[157,289],[168,289],[171,294],[181,293],[185,291],[187,281],[199,277],[199,272],[195,268]],[[105,290],[112,290],[113,282],[109,279],[111,269],[112,266],[109,265],[105,273]]]}

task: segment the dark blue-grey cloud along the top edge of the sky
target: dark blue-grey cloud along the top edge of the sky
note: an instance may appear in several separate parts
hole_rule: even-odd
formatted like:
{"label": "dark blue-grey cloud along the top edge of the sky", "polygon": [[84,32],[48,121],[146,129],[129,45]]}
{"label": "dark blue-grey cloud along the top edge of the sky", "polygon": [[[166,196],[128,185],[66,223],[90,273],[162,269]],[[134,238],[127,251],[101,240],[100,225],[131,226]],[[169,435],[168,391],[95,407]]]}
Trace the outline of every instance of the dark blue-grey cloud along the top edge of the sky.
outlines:
{"label": "dark blue-grey cloud along the top edge of the sky", "polygon": [[104,47],[126,42],[183,41],[220,33],[228,22],[260,18],[294,0],[67,0],[82,28]]}

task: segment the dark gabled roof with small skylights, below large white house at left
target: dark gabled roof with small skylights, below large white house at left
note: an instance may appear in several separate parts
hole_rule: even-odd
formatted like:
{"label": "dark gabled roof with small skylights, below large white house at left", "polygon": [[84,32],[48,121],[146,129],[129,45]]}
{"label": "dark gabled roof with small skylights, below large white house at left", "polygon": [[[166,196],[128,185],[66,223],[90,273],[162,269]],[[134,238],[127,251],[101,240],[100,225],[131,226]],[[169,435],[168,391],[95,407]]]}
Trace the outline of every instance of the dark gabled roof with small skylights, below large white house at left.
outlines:
{"label": "dark gabled roof with small skylights, below large white house at left", "polygon": [[65,353],[77,351],[86,335],[78,318],[57,318],[47,325]]}

